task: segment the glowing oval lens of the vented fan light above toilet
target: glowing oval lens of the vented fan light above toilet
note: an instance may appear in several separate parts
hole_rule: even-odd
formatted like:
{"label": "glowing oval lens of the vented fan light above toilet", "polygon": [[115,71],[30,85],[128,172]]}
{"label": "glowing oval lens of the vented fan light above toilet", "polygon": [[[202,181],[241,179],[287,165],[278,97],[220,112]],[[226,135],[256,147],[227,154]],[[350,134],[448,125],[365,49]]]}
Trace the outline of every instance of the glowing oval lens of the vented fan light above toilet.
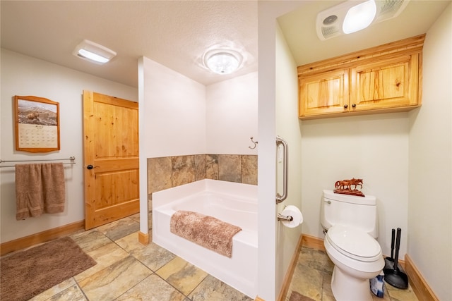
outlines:
{"label": "glowing oval lens of the vented fan light above toilet", "polygon": [[342,30],[345,34],[357,32],[371,25],[376,15],[374,0],[365,1],[362,4],[352,6],[345,15]]}

